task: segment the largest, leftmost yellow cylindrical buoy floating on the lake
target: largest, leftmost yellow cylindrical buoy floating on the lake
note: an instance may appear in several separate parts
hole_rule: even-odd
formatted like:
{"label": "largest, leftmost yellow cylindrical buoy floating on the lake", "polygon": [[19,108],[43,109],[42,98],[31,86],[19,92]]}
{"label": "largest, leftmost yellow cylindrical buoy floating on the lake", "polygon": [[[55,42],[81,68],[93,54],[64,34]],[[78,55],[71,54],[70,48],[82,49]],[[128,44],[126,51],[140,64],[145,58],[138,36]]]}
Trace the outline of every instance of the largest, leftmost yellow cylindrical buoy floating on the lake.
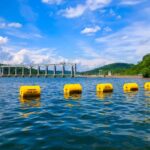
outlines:
{"label": "largest, leftmost yellow cylindrical buoy floating on the lake", "polygon": [[21,97],[38,97],[41,94],[40,86],[21,86],[20,96]]}

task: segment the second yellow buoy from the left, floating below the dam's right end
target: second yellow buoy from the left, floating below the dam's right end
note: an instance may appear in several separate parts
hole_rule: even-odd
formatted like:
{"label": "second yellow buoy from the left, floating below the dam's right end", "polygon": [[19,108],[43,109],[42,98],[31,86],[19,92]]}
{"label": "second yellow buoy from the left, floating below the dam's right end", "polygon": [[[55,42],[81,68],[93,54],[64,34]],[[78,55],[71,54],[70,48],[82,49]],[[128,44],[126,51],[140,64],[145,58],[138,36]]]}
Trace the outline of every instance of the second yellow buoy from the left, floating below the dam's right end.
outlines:
{"label": "second yellow buoy from the left, floating below the dam's right end", "polygon": [[82,86],[81,84],[66,84],[64,85],[64,93],[67,94],[80,94],[82,93]]}

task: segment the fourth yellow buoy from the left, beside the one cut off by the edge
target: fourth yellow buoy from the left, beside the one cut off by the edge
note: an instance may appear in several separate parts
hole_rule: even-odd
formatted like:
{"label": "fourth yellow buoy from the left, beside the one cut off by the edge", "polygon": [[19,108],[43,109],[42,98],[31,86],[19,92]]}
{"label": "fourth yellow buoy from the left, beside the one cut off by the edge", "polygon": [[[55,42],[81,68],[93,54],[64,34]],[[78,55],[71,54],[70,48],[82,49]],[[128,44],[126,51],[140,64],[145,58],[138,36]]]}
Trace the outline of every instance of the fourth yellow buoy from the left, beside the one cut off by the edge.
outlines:
{"label": "fourth yellow buoy from the left, beside the one cut off by the edge", "polygon": [[125,92],[138,91],[139,87],[137,83],[125,83],[123,85],[123,90]]}

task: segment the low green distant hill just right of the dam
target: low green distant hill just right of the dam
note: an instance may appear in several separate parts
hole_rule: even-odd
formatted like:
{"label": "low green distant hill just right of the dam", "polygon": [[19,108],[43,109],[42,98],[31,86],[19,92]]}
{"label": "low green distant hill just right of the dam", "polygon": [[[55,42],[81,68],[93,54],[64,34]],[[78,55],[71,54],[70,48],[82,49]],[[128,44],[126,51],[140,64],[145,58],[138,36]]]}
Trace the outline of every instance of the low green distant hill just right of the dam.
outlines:
{"label": "low green distant hill just right of the dam", "polygon": [[122,74],[125,70],[132,68],[133,64],[127,63],[113,63],[99,67],[90,71],[82,72],[83,75],[92,75],[92,74],[108,74],[108,71],[111,71],[112,74]]}

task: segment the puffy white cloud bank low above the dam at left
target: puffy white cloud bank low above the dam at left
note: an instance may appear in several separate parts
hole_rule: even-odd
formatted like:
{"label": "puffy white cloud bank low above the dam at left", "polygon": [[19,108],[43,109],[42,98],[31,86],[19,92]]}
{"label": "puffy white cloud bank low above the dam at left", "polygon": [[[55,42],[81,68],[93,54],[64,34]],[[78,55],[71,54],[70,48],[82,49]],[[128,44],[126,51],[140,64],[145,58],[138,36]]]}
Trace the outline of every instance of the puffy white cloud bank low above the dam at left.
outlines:
{"label": "puffy white cloud bank low above the dam at left", "polygon": [[11,47],[0,47],[0,60],[4,64],[48,64],[67,61],[55,54],[54,49],[27,49],[14,50]]}

